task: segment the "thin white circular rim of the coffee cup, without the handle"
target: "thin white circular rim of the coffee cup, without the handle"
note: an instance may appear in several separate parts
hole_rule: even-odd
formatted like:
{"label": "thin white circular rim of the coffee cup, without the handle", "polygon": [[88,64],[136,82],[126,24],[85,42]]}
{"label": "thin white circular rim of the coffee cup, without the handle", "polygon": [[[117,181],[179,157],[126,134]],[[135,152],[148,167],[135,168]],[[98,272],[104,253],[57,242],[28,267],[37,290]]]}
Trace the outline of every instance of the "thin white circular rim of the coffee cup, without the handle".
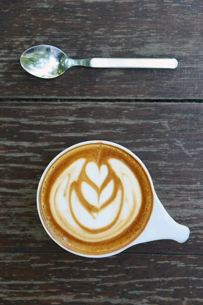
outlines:
{"label": "thin white circular rim of the coffee cup, without the handle", "polygon": [[[41,223],[45,229],[45,231],[47,232],[47,234],[51,237],[51,239],[53,239],[53,241],[55,241],[57,243],[57,245],[59,245],[60,247],[62,247],[63,249],[65,249],[66,251],[70,252],[70,253],[73,253],[73,254],[76,254],[76,255],[79,255],[79,256],[82,256],[82,257],[89,257],[89,258],[103,258],[103,257],[109,257],[109,256],[113,256],[113,255],[116,255],[116,254],[119,254],[121,252],[123,252],[124,250],[130,248],[131,246],[133,246],[133,243],[136,239],[132,240],[132,242],[130,242],[126,247],[123,247],[117,251],[113,251],[113,252],[110,252],[110,253],[106,253],[106,254],[98,254],[98,255],[88,255],[88,254],[82,254],[82,253],[78,253],[78,252],[74,252],[72,250],[69,250],[67,249],[66,247],[64,247],[63,245],[61,245],[55,238],[54,236],[51,235],[51,233],[48,231],[48,229],[46,228],[45,224],[44,224],[44,221],[42,219],[42,216],[41,216],[41,212],[40,212],[40,207],[39,207],[39,194],[40,194],[40,189],[41,189],[41,185],[42,185],[42,182],[43,182],[43,179],[44,179],[44,176],[46,175],[48,169],[50,168],[50,166],[55,162],[55,160],[57,160],[60,156],[62,156],[63,154],[65,154],[67,151],[75,148],[75,147],[78,147],[78,146],[82,146],[82,145],[85,145],[85,144],[93,144],[93,143],[104,143],[104,144],[109,144],[109,145],[112,145],[112,146],[115,146],[115,147],[118,147],[118,148],[121,148],[123,150],[125,150],[128,154],[130,154],[134,159],[136,159],[140,164],[141,166],[143,167],[144,171],[147,173],[147,176],[150,180],[150,185],[151,185],[151,188],[152,188],[152,193],[153,193],[153,198],[155,199],[155,196],[156,196],[156,192],[155,192],[155,189],[154,189],[154,185],[153,185],[153,181],[152,181],[152,178],[150,176],[150,173],[147,169],[147,167],[143,164],[143,162],[139,159],[139,157],[137,157],[134,153],[132,153],[131,150],[129,150],[128,148],[126,148],[125,146],[122,146],[120,144],[117,144],[117,143],[114,143],[114,142],[111,142],[111,141],[105,141],[105,140],[90,140],[90,141],[84,141],[84,142],[79,142],[77,144],[74,144],[74,145],[71,145],[70,147],[64,149],[61,151],[61,153],[59,153],[58,155],[56,155],[50,162],[49,164],[46,166],[45,170],[43,171],[42,173],[42,176],[39,180],[39,184],[38,184],[38,189],[37,189],[37,210],[38,210],[38,214],[39,214],[39,218],[41,220]],[[153,199],[153,202],[154,202],[154,199]],[[154,203],[153,203],[153,206],[154,206]],[[153,207],[152,207],[152,212],[153,212]],[[151,212],[151,215],[152,215],[152,212]],[[151,218],[151,215],[150,215],[150,218]],[[150,220],[149,218],[149,220]],[[149,220],[146,224],[146,227],[148,226],[148,223],[149,223]],[[144,227],[144,229],[146,228]],[[142,231],[143,232],[143,231]],[[142,232],[139,234],[139,236],[142,234]]]}

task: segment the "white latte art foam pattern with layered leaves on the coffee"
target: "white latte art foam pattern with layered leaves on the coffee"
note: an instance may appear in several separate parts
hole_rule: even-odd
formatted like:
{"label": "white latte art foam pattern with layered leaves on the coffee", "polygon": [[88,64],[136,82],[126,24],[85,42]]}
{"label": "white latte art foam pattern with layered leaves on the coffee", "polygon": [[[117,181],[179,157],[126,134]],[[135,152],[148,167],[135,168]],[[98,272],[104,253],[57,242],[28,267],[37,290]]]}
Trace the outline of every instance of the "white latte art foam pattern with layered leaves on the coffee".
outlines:
{"label": "white latte art foam pattern with layered leaves on the coffee", "polygon": [[83,158],[75,161],[56,179],[50,194],[56,222],[85,241],[118,235],[135,219],[140,205],[136,177],[113,158],[100,168]]}

